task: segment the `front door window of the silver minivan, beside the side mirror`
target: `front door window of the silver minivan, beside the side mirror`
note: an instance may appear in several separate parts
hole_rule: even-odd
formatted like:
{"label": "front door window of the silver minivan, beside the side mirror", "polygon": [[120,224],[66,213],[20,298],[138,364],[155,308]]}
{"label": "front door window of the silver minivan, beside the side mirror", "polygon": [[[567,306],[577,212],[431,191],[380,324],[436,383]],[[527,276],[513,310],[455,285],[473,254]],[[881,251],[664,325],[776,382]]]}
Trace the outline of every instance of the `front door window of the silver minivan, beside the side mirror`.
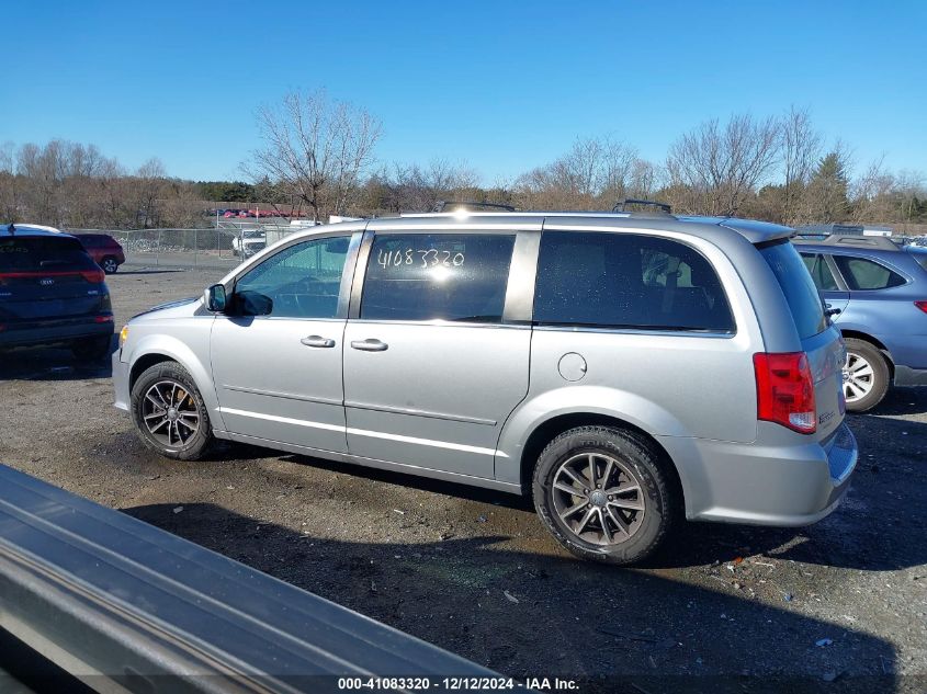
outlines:
{"label": "front door window of the silver minivan, beside the side mirror", "polygon": [[348,246],[348,237],[335,237],[285,248],[238,280],[237,305],[247,315],[267,297],[274,318],[335,318]]}

